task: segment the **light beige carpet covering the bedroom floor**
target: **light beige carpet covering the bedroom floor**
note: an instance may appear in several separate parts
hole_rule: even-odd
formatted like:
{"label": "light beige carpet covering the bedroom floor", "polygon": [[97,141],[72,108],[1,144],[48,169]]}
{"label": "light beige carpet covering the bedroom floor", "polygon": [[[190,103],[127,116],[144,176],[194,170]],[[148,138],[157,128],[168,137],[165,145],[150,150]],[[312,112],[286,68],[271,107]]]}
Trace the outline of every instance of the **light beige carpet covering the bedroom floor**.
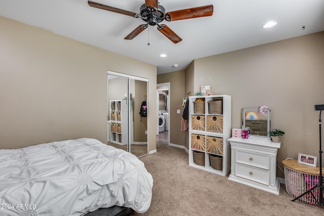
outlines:
{"label": "light beige carpet covering the bedroom floor", "polygon": [[141,157],[153,177],[147,212],[132,215],[324,215],[323,206],[293,199],[280,184],[280,195],[228,180],[188,165],[188,153],[157,144],[157,152]]}

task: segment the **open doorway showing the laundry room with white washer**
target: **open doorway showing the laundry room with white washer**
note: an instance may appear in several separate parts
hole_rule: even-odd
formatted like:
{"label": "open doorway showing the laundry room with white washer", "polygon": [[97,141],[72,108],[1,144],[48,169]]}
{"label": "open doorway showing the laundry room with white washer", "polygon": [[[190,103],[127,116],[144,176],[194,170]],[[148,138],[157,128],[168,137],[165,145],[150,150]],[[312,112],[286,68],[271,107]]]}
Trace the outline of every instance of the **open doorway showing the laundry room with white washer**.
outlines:
{"label": "open doorway showing the laundry room with white washer", "polygon": [[170,82],[156,85],[156,142],[170,145]]}

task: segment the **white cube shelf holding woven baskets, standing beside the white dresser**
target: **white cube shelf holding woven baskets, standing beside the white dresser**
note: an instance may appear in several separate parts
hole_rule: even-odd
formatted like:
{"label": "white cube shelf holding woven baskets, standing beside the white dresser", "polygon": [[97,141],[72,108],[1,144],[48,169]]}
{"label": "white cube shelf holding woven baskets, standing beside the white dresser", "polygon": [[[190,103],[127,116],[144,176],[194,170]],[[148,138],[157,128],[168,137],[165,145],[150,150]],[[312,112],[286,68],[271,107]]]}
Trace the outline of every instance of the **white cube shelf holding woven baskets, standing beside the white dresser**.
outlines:
{"label": "white cube shelf holding woven baskets, standing beside the white dresser", "polygon": [[[204,103],[197,103],[197,99],[205,101]],[[218,102],[213,103],[214,101]],[[221,101],[221,104],[219,101]],[[210,107],[214,105],[217,105],[217,107]],[[230,146],[227,141],[230,134],[231,96],[189,97],[189,166],[226,176],[230,170]],[[205,165],[195,163],[194,151],[205,154]],[[221,169],[214,169],[211,166],[210,155],[222,157],[222,160],[220,160],[222,161]]]}

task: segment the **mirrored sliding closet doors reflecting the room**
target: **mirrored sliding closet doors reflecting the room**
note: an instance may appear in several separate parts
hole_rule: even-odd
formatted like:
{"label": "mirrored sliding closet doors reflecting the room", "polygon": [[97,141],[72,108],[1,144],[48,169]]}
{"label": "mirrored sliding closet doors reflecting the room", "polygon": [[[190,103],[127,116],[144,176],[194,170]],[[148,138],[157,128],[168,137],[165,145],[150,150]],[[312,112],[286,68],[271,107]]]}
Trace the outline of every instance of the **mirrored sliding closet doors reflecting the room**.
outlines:
{"label": "mirrored sliding closet doors reflecting the room", "polygon": [[139,115],[147,81],[108,73],[107,144],[140,157],[148,152],[147,117]]}

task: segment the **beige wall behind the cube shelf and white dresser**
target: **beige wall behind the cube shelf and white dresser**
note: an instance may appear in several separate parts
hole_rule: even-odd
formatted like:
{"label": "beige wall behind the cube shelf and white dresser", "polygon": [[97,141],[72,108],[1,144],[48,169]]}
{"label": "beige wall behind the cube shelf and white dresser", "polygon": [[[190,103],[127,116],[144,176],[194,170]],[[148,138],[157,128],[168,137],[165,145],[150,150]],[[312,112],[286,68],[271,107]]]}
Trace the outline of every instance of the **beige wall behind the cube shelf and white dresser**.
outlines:
{"label": "beige wall behind the cube shelf and white dresser", "polygon": [[[194,90],[232,96],[232,127],[241,109],[271,108],[272,129],[286,132],[277,162],[298,153],[318,156],[319,111],[324,104],[324,32],[194,60]],[[324,133],[324,131],[322,131]],[[277,171],[281,178],[284,174]]]}

